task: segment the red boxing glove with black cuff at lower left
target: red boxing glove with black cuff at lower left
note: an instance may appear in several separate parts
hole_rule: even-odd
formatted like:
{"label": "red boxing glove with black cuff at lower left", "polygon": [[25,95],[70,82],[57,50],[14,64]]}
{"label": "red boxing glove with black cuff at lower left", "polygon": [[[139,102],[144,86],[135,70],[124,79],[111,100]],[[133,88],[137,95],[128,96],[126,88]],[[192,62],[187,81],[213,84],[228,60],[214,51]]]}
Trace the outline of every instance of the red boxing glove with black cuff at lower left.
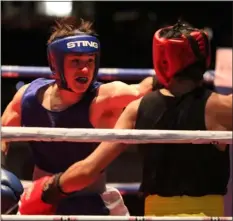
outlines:
{"label": "red boxing glove with black cuff at lower left", "polygon": [[57,204],[67,194],[61,191],[61,174],[42,177],[33,182],[21,196],[19,213],[21,215],[55,215]]}

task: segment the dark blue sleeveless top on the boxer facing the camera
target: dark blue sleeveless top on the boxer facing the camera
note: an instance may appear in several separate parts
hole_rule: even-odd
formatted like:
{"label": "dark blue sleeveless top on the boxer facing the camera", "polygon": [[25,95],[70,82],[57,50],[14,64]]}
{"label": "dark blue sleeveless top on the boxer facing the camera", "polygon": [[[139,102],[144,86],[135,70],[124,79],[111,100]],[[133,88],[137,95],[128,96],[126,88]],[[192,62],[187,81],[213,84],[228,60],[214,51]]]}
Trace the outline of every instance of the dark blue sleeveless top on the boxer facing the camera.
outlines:
{"label": "dark blue sleeveless top on the boxer facing the camera", "polygon": [[[54,80],[37,79],[27,88],[22,99],[21,125],[27,127],[93,128],[89,121],[89,106],[96,88],[87,92],[78,103],[61,112],[45,109],[37,98],[42,87]],[[35,163],[49,173],[65,171],[74,162],[84,159],[95,148],[95,143],[31,142]]]}

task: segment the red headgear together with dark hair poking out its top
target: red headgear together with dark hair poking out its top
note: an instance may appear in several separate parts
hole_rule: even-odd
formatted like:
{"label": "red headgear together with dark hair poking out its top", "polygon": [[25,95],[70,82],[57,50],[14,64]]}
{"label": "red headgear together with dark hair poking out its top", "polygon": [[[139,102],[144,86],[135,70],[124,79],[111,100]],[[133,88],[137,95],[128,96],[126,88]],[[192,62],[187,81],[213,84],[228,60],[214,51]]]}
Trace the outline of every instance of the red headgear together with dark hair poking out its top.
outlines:
{"label": "red headgear together with dark hair poking out its top", "polygon": [[158,30],[153,37],[153,64],[158,81],[165,87],[174,76],[192,73],[192,78],[202,79],[210,65],[207,33],[181,22]]}

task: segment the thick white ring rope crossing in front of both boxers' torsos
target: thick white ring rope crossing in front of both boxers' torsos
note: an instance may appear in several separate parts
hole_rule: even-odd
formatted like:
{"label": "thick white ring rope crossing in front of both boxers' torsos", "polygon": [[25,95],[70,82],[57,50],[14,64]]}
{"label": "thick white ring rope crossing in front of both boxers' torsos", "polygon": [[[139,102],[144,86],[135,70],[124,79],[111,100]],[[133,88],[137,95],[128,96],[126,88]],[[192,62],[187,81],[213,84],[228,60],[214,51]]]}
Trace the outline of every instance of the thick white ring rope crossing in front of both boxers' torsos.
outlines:
{"label": "thick white ring rope crossing in front of both boxers' torsos", "polygon": [[67,129],[43,127],[2,127],[4,141],[120,142],[120,143],[226,143],[230,131]]}

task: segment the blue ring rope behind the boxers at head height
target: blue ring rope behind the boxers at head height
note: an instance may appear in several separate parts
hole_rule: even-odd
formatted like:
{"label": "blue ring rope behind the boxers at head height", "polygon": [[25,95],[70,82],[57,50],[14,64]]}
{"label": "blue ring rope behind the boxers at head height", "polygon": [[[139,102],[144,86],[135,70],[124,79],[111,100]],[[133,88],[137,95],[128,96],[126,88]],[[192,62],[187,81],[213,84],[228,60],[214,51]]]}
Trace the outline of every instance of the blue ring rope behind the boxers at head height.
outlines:
{"label": "blue ring rope behind the boxers at head height", "polygon": [[[214,79],[214,73],[214,70],[208,70],[204,74],[205,81],[212,82]],[[100,68],[98,72],[98,80],[142,80],[145,77],[153,76],[154,74],[154,69]],[[4,78],[51,78],[52,73],[49,67],[3,65],[1,67],[1,75]]]}

